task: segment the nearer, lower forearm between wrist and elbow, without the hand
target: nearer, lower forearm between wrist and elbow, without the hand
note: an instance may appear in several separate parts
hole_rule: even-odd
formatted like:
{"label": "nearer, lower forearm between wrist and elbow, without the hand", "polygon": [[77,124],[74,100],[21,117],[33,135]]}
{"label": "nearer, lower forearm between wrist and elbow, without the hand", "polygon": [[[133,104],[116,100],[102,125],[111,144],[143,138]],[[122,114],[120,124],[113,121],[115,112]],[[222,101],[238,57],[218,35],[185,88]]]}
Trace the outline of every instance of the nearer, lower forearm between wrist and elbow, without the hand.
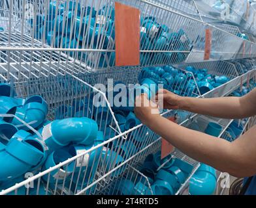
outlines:
{"label": "nearer, lower forearm between wrist and elbow, without the hand", "polygon": [[223,172],[236,172],[237,151],[234,151],[232,143],[187,129],[161,116],[156,116],[153,122],[146,124],[189,157]]}

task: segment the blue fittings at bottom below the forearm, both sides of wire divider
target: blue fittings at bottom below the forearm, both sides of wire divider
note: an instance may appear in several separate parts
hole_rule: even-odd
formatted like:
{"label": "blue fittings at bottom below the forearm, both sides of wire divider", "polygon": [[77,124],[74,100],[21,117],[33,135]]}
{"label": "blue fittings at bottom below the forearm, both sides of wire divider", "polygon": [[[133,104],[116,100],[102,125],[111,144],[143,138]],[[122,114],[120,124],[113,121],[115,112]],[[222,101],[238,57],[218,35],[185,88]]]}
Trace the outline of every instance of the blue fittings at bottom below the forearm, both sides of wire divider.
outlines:
{"label": "blue fittings at bottom below the forearm, both sides of wire divider", "polygon": [[195,173],[193,169],[191,164],[170,155],[161,159],[157,151],[148,155],[138,169],[130,166],[127,173],[102,194],[174,195],[185,183],[189,183],[189,194],[213,194],[217,184],[216,170],[206,164],[201,164]]}

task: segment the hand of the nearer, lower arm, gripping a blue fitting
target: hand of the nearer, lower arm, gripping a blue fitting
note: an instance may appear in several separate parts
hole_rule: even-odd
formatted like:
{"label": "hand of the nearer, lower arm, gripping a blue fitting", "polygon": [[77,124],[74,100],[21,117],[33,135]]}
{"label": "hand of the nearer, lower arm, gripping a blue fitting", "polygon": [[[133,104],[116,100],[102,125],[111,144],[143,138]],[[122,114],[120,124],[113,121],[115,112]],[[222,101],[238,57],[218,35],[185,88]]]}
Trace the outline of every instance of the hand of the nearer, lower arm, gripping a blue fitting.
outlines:
{"label": "hand of the nearer, lower arm, gripping a blue fitting", "polygon": [[136,97],[135,115],[145,125],[149,125],[157,116],[160,116],[157,104],[150,101],[147,94]]}

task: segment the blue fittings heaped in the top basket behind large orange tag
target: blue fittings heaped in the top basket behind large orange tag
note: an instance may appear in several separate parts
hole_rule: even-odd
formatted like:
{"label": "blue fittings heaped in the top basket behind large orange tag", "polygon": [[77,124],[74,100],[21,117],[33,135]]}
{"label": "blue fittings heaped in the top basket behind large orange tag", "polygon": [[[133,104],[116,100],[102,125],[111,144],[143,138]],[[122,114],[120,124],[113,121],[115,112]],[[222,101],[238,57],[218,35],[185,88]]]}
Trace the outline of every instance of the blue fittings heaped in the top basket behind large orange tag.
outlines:
{"label": "blue fittings heaped in the top basket behind large orange tag", "polygon": [[[93,6],[82,6],[74,1],[61,4],[50,1],[48,14],[30,19],[31,29],[35,27],[35,38],[46,40],[53,47],[81,49],[114,49],[114,17],[112,6],[103,6],[98,11]],[[54,27],[56,26],[56,27]],[[165,60],[183,62],[188,53],[153,53],[153,51],[191,51],[192,43],[183,29],[170,31],[167,25],[157,23],[152,17],[140,20],[140,49],[152,51],[141,53],[141,64],[157,63]],[[78,59],[89,66],[105,68],[114,66],[115,52],[101,53],[99,63],[92,52],[79,52]],[[73,52],[69,52],[73,55]]]}

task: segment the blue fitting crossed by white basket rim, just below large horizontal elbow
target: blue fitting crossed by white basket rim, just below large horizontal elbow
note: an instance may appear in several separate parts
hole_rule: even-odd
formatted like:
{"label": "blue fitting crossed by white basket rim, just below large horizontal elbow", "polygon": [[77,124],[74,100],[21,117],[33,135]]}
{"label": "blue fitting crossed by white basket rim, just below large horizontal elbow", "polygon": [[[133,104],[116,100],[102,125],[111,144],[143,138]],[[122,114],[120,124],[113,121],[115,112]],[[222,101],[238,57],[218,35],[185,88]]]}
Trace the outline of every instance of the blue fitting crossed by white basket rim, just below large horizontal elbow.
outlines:
{"label": "blue fitting crossed by white basket rim, just below large horizontal elbow", "polygon": [[[47,157],[44,165],[42,166],[42,170],[48,170],[60,162],[67,161],[67,159],[70,159],[71,157],[72,155],[65,149],[57,149],[56,151],[50,153],[50,155]],[[62,183],[65,178],[67,179],[67,177],[72,174],[75,165],[75,162],[72,161],[63,167],[57,168],[56,170],[50,172],[50,177],[48,174],[43,175],[42,179],[44,181],[48,181],[49,178],[50,185],[55,185],[56,180],[57,183]]]}

